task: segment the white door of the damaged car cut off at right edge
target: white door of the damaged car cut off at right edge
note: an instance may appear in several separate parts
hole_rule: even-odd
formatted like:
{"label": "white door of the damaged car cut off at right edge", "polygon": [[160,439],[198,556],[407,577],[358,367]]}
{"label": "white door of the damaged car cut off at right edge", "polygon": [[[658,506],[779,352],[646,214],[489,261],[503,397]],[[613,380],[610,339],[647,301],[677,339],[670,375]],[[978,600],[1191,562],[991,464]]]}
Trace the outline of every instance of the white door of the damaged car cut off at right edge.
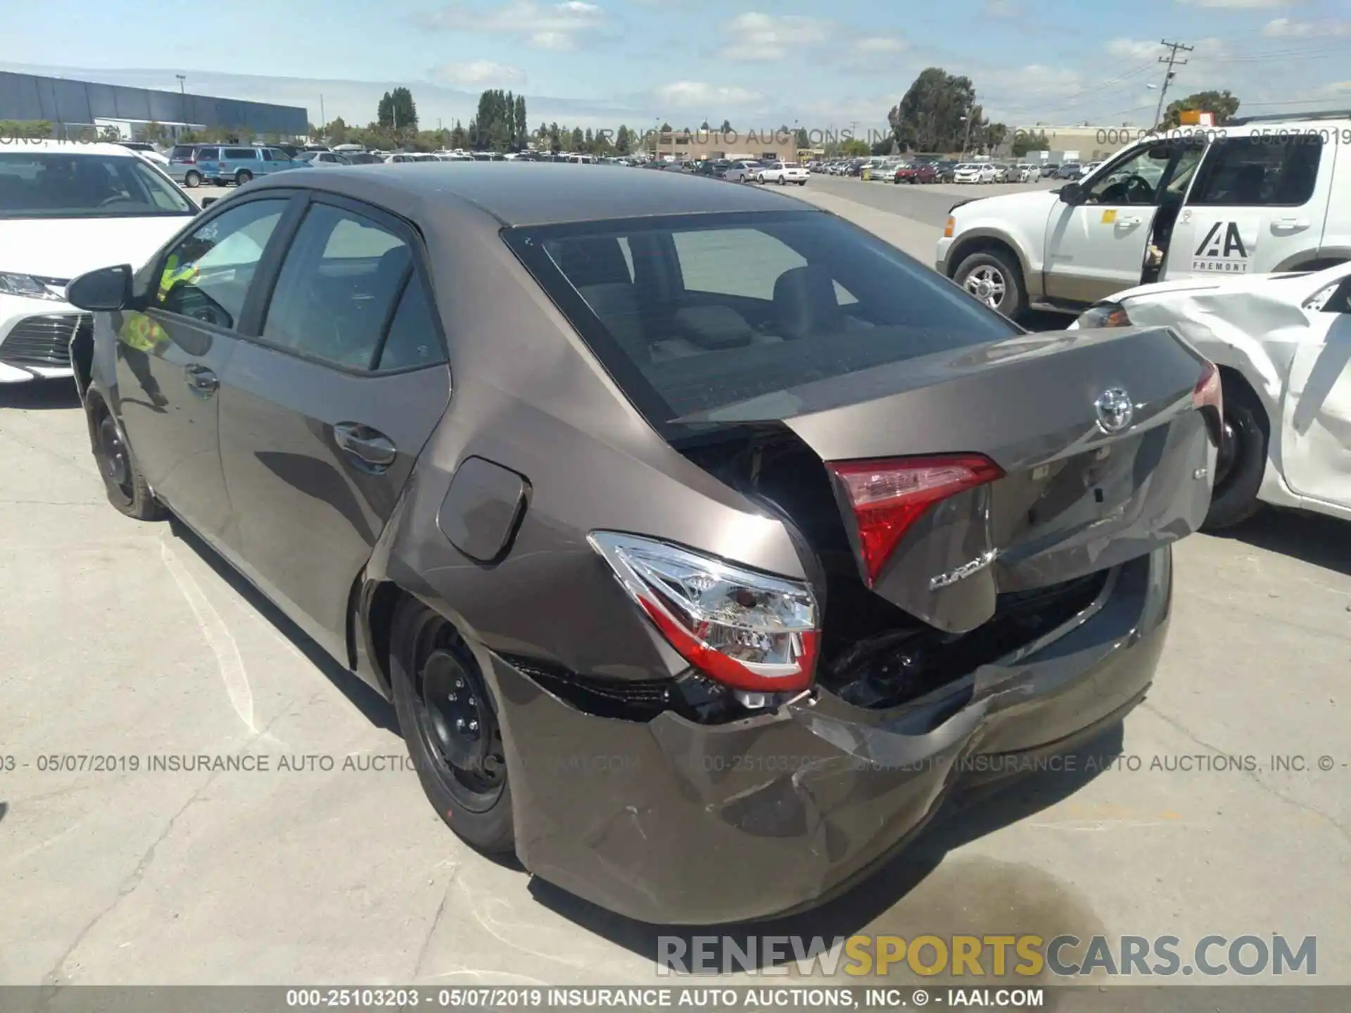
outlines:
{"label": "white door of the damaged car cut off at right edge", "polygon": [[1351,508],[1351,278],[1308,312],[1282,407],[1285,479],[1300,496]]}

